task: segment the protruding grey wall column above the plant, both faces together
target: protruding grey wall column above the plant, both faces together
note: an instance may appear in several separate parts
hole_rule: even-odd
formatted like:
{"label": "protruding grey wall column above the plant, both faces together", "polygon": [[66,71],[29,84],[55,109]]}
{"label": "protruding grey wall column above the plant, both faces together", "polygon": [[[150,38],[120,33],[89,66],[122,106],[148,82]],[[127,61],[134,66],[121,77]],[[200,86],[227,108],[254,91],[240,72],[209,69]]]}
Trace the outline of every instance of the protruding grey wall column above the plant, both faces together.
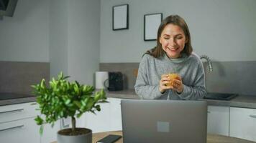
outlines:
{"label": "protruding grey wall column above the plant, both faces together", "polygon": [[99,70],[100,0],[54,0],[50,6],[50,71],[93,84]]}

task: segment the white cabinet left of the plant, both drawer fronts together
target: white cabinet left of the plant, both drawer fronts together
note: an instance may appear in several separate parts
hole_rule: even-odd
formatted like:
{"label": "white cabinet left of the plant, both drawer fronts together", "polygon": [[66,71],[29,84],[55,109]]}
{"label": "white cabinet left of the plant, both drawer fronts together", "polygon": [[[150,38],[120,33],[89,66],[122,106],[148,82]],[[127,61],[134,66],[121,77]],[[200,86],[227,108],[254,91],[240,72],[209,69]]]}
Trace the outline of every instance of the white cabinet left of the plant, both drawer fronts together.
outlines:
{"label": "white cabinet left of the plant, both drawer fronts together", "polygon": [[0,107],[1,142],[40,142],[39,126],[34,121],[37,104],[29,102]]}

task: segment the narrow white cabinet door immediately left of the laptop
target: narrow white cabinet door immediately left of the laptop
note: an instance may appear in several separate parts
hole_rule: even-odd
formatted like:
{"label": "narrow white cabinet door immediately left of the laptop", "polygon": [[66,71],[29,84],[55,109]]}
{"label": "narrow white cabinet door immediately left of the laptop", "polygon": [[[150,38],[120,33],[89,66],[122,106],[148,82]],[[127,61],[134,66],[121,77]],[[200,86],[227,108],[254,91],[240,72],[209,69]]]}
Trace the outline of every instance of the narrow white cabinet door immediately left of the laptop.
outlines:
{"label": "narrow white cabinet door immediately left of the laptop", "polygon": [[121,99],[109,98],[111,131],[122,130]]}

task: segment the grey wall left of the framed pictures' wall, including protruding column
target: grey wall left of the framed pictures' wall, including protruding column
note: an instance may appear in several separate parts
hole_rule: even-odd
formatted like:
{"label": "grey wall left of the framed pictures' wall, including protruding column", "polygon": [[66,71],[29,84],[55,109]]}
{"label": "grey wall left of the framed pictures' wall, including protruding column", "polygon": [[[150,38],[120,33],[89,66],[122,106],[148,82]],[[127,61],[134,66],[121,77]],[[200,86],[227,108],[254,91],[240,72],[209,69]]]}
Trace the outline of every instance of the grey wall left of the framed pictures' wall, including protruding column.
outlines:
{"label": "grey wall left of the framed pictures' wall, including protruding column", "polygon": [[50,77],[93,84],[99,70],[100,0],[19,0],[0,21],[0,61],[47,61]]}

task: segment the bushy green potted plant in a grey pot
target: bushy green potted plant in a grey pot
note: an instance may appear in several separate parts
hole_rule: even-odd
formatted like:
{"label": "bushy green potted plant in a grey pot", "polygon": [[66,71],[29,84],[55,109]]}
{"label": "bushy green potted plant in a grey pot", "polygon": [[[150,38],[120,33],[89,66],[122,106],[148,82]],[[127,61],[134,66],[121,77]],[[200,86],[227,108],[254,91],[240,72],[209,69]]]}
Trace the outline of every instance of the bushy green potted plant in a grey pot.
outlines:
{"label": "bushy green potted plant in a grey pot", "polygon": [[58,79],[52,78],[49,84],[42,79],[40,84],[32,85],[33,92],[37,96],[37,103],[42,116],[37,116],[35,121],[40,125],[42,134],[43,124],[52,124],[61,118],[71,117],[72,128],[58,131],[58,143],[91,143],[91,129],[77,128],[76,118],[85,112],[100,111],[99,103],[106,102],[106,94],[103,89],[95,92],[94,87],[76,82],[68,82],[68,77],[63,72],[58,74]]}

